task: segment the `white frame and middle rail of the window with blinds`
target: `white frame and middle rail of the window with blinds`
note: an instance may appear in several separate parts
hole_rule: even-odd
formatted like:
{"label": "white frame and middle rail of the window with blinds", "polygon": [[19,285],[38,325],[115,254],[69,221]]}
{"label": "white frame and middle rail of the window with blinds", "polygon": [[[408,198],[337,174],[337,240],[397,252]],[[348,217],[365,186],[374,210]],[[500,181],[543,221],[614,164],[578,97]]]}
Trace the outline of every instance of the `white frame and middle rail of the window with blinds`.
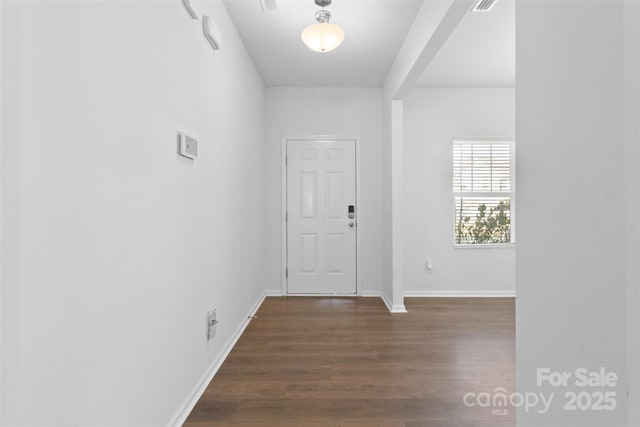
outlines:
{"label": "white frame and middle rail of the window with blinds", "polygon": [[[511,166],[511,179],[509,186],[511,191],[495,191],[495,192],[472,192],[472,191],[452,191],[452,218],[451,221],[453,225],[453,247],[454,249],[503,249],[503,248],[512,248],[516,245],[516,143],[513,138],[453,138],[453,143],[451,144],[451,161],[449,165],[451,167],[451,189],[453,190],[453,148],[456,144],[509,144],[510,150],[510,166]],[[511,238],[508,243],[456,243],[456,197],[465,195],[473,195],[475,197],[500,197],[500,195],[505,195],[510,198],[510,212],[509,212],[509,223],[510,223],[510,231]]]}

